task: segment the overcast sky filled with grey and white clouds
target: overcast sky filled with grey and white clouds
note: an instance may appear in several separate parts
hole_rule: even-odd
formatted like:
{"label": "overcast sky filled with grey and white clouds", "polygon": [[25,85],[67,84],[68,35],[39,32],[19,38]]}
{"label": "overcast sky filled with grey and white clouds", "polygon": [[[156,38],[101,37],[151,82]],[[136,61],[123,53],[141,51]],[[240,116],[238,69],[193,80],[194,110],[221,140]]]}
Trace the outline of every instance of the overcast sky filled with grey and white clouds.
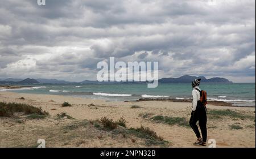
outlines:
{"label": "overcast sky filled with grey and white clouds", "polygon": [[97,63],[158,61],[255,82],[255,1],[0,0],[0,79],[95,80]]}

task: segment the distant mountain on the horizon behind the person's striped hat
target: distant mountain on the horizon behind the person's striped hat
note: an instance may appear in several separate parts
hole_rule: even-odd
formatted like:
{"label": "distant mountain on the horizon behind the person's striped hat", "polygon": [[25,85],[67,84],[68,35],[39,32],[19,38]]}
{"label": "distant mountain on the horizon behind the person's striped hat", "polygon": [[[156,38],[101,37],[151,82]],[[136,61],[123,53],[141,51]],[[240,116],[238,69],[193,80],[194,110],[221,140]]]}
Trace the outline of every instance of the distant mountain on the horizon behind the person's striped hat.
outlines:
{"label": "distant mountain on the horizon behind the person's striped hat", "polygon": [[202,82],[232,83],[232,81],[229,81],[228,79],[225,79],[225,78],[207,79],[204,76],[196,77],[196,76],[189,76],[189,75],[184,75],[179,78],[162,78],[162,79],[159,79],[159,83],[191,83],[196,78],[201,78]]}

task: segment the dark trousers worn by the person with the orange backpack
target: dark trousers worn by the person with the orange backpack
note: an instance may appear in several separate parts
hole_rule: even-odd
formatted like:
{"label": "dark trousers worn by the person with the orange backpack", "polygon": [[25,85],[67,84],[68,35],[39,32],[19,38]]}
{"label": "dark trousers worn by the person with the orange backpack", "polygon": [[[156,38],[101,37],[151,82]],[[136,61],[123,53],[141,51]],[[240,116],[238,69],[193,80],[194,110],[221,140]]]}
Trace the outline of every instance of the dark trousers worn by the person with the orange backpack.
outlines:
{"label": "dark trousers worn by the person with the orange backpack", "polygon": [[200,101],[197,102],[196,111],[191,113],[191,118],[189,120],[189,124],[192,127],[193,131],[196,134],[196,137],[201,137],[201,134],[196,125],[197,121],[199,121],[199,126],[201,129],[201,133],[203,136],[203,141],[207,141],[207,110],[205,106],[201,105]]}

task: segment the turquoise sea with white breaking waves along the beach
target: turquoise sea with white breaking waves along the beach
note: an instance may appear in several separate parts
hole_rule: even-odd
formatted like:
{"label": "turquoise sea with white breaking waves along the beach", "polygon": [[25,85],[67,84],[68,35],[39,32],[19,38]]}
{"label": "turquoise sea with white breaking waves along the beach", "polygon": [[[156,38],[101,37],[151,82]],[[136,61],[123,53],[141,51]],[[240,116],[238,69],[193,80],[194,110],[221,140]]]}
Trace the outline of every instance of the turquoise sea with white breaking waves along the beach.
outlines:
{"label": "turquoise sea with white breaking waves along the beach", "polygon": [[[13,92],[32,94],[59,94],[104,100],[138,100],[139,98],[191,98],[191,84],[160,84],[147,88],[147,84],[64,84],[32,85]],[[202,83],[208,100],[232,102],[238,106],[255,106],[255,83]],[[1,90],[5,91],[5,90]]]}

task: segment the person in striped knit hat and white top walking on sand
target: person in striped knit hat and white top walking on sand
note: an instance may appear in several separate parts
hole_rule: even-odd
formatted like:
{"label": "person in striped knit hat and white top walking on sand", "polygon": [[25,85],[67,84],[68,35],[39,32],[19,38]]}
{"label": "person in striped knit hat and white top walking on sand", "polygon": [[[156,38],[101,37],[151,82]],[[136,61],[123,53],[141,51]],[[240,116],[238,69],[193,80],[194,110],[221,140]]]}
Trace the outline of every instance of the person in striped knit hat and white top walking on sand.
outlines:
{"label": "person in striped knit hat and white top walking on sand", "polygon": [[[192,112],[191,118],[189,120],[189,124],[192,127],[193,131],[196,134],[197,141],[194,144],[206,146],[207,142],[207,109],[204,106],[203,102],[200,101],[200,97],[202,96],[202,91],[199,88],[201,79],[195,79],[192,81]],[[201,129],[201,134],[203,139],[201,138],[201,134],[196,125],[197,121],[199,121],[199,126]]]}

